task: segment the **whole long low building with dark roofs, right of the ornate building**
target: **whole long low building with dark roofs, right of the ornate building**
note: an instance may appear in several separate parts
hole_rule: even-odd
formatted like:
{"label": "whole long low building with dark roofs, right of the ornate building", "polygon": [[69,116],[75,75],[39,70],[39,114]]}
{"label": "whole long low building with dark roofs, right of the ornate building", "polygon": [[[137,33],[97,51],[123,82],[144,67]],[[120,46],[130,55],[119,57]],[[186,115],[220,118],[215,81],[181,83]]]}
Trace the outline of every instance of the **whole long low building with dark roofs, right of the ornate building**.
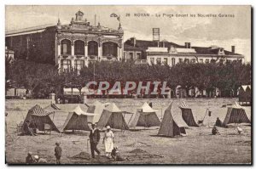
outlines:
{"label": "whole long low building with dark roofs, right of the ornate building", "polygon": [[[141,57],[135,57],[133,51]],[[244,62],[245,57],[236,54],[235,46],[231,46],[231,51],[224,50],[216,46],[212,47],[192,47],[190,42],[178,45],[166,40],[161,42],[136,40],[135,37],[125,42],[125,59],[147,59],[149,65],[167,64],[170,66],[177,63],[210,63],[210,62],[230,62],[238,60]]]}

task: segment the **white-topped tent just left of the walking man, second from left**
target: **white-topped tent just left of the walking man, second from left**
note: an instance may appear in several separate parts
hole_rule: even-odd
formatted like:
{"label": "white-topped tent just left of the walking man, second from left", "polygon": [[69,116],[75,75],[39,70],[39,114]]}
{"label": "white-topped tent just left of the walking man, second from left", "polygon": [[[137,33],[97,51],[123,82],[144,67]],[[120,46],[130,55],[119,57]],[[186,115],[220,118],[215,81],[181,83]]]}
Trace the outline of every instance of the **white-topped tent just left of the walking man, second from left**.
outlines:
{"label": "white-topped tent just left of the walking man, second from left", "polygon": [[90,131],[88,122],[92,121],[93,115],[95,114],[85,113],[83,110],[81,110],[80,106],[78,105],[74,110],[68,113],[67,119],[61,131],[67,131],[67,130]]}

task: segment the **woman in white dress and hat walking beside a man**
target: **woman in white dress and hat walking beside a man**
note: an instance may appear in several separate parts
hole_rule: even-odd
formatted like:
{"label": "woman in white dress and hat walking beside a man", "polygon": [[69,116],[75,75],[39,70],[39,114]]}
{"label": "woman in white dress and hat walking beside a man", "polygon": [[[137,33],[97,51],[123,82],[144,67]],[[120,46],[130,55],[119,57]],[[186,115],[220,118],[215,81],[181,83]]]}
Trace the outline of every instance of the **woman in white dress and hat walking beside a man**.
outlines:
{"label": "woman in white dress and hat walking beside a man", "polygon": [[105,144],[106,156],[111,155],[113,149],[113,132],[111,131],[110,126],[107,127],[102,144]]}

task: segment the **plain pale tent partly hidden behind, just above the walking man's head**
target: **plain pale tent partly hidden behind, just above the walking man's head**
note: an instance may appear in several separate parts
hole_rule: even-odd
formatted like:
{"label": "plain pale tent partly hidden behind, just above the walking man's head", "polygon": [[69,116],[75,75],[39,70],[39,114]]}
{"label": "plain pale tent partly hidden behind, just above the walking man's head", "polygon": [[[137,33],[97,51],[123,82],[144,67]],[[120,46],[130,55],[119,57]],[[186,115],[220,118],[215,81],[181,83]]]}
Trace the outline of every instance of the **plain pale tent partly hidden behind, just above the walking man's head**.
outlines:
{"label": "plain pale tent partly hidden behind, just above the walking man's head", "polygon": [[95,114],[92,119],[92,123],[97,123],[102,115],[105,105],[96,100],[93,104],[89,105],[87,113]]}

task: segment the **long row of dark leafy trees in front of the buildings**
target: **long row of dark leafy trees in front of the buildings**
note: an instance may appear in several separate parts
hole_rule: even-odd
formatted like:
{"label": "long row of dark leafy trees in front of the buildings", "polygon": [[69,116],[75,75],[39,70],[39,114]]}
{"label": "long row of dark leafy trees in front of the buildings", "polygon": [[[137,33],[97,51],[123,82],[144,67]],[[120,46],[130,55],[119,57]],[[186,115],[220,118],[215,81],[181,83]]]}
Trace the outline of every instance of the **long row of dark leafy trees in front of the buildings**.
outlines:
{"label": "long row of dark leafy trees in front of the buildings", "polygon": [[[49,93],[63,93],[63,87],[75,87],[81,90],[87,82],[167,82],[175,89],[178,85],[189,93],[189,89],[212,91],[218,87],[221,91],[237,91],[238,87],[251,82],[251,65],[231,62],[225,65],[186,64],[135,65],[133,62],[96,62],[82,70],[70,70],[59,73],[58,66],[38,64],[22,59],[6,59],[6,89],[26,87],[35,98],[42,98]],[[236,92],[234,92],[236,96]],[[229,97],[230,95],[224,95]]]}

